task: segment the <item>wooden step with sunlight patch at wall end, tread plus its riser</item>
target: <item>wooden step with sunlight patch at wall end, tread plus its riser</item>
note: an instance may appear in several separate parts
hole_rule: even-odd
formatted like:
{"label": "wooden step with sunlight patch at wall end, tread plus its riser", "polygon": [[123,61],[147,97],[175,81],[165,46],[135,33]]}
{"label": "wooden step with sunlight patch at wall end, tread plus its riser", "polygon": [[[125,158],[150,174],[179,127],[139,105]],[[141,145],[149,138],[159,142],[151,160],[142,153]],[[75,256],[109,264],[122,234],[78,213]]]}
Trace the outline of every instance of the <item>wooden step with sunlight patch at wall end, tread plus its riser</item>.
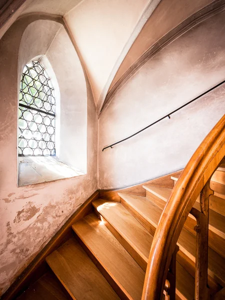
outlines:
{"label": "wooden step with sunlight patch at wall end, tread plus its riser", "polygon": [[97,199],[92,205],[103,217],[105,226],[145,271],[152,235],[121,203]]}

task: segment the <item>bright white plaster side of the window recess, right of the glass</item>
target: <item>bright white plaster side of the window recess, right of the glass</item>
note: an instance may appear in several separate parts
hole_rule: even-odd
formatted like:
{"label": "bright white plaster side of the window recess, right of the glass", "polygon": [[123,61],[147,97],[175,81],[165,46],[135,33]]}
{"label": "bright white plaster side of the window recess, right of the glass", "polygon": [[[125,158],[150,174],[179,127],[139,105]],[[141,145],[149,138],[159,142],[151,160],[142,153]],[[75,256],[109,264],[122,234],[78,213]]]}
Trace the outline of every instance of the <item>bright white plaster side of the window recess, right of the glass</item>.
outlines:
{"label": "bright white plaster side of the window recess, right of the glass", "polygon": [[[75,49],[63,26],[46,56],[55,72],[60,90],[60,161],[86,172],[87,103],[86,83]],[[60,61],[60,63],[58,63]]]}

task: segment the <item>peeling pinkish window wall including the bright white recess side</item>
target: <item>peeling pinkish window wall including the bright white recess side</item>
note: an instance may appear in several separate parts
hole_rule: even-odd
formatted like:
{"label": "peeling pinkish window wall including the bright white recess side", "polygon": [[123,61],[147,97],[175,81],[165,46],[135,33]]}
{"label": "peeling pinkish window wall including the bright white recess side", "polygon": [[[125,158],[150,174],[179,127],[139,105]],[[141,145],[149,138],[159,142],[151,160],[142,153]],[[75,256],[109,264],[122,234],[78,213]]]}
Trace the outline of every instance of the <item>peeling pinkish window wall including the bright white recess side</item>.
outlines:
{"label": "peeling pinkish window wall including the bright white recess side", "polygon": [[[0,294],[97,189],[97,118],[88,82],[63,26],[35,18],[20,18],[0,39]],[[60,159],[85,174],[17,187],[18,86],[36,55],[46,55],[60,89]]]}

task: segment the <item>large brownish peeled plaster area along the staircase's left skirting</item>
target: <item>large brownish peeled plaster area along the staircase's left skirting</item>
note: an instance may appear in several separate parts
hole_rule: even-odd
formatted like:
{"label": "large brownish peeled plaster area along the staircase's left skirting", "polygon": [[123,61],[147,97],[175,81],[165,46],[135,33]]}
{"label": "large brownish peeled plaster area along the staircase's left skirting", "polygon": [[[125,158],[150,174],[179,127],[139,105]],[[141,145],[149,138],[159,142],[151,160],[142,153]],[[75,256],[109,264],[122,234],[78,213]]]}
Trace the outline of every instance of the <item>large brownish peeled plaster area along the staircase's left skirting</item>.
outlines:
{"label": "large brownish peeled plaster area along the staircase's left skirting", "polygon": [[[67,198],[63,202],[56,202],[56,205],[49,203],[30,225],[16,234],[11,232],[10,222],[6,222],[8,238],[5,243],[0,245],[2,248],[0,268],[3,269],[5,266],[8,266],[10,274],[6,275],[3,272],[3,277],[0,276],[0,292],[6,290],[12,282],[12,278],[15,278],[24,269],[70,214],[78,208],[77,206],[79,204],[77,205],[75,202],[70,203]],[[31,202],[28,202],[22,210],[17,211],[16,222],[19,221],[19,218],[22,220],[27,217],[26,212],[30,213],[29,208],[32,210],[32,215],[36,213],[37,208]],[[63,214],[62,211],[64,212]],[[46,232],[49,234],[47,239]],[[11,261],[16,262],[16,264],[10,265]]]}

